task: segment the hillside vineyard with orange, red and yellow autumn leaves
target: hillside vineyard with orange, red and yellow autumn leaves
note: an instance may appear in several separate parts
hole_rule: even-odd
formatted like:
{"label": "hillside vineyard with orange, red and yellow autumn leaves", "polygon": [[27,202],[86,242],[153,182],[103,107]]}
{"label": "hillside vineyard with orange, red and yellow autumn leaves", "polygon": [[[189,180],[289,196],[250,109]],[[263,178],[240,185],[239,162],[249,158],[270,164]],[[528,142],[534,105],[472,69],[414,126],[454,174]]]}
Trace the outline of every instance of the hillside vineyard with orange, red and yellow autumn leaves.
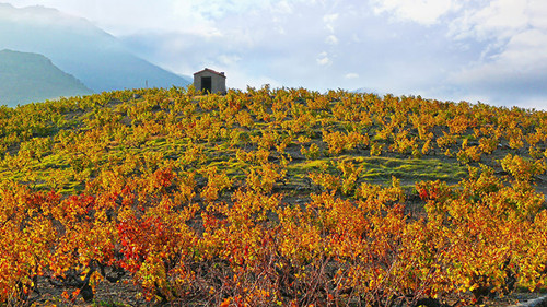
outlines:
{"label": "hillside vineyard with orange, red and yellow autumn leaves", "polygon": [[546,288],[545,111],[190,86],[0,107],[0,306],[104,284],[193,306]]}

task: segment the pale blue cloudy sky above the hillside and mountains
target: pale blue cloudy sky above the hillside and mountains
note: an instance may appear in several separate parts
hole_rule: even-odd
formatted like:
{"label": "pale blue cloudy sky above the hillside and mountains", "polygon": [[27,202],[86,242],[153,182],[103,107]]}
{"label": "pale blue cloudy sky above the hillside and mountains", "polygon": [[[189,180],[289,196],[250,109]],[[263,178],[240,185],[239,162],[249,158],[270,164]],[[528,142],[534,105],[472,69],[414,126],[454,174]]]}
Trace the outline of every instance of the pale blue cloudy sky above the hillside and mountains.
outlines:
{"label": "pale blue cloudy sky above the hillside and mountains", "polygon": [[547,109],[546,0],[0,0],[84,17],[229,87],[358,90]]}

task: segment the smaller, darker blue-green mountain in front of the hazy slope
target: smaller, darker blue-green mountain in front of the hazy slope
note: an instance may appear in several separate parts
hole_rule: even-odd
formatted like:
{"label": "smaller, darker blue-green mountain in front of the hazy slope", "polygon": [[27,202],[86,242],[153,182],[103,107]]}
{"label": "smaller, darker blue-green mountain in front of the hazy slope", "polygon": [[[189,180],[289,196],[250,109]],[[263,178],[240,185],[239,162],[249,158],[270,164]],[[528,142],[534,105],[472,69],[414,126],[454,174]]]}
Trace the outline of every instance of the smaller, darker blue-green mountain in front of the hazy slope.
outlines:
{"label": "smaller, darker blue-green mountain in front of the hazy slope", "polygon": [[92,93],[78,79],[60,70],[42,55],[0,51],[1,105],[15,106]]}

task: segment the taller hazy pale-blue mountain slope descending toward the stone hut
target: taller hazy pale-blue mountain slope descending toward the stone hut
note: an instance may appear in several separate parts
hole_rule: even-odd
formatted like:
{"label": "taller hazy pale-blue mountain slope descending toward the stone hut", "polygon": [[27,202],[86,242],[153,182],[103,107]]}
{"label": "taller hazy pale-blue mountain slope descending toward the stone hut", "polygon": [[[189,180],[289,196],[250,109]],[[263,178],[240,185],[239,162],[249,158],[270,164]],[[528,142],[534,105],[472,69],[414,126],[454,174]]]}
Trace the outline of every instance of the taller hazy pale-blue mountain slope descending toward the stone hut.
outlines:
{"label": "taller hazy pale-blue mountain slope descending toward the stone hut", "polygon": [[44,55],[94,92],[190,83],[135,56],[90,21],[38,5],[0,3],[0,47]]}

